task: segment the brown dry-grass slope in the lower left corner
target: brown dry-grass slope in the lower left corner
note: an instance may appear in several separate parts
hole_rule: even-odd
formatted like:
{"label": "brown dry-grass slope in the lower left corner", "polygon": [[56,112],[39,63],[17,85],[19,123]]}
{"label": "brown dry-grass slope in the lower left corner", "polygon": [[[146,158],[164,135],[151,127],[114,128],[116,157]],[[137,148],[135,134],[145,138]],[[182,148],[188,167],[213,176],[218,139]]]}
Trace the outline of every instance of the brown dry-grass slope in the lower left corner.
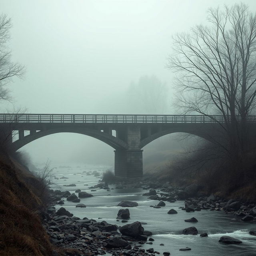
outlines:
{"label": "brown dry-grass slope in the lower left corner", "polygon": [[37,214],[42,202],[36,196],[36,180],[27,186],[22,177],[33,179],[32,174],[17,165],[0,157],[0,255],[51,255],[52,245]]}

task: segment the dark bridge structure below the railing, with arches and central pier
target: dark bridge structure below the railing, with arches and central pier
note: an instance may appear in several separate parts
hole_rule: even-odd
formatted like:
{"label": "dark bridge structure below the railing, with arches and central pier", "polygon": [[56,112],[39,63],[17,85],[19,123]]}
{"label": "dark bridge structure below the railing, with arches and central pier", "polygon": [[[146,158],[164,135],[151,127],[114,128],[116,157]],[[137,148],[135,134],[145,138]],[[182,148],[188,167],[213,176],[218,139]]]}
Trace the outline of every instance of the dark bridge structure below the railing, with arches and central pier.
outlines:
{"label": "dark bridge structure below the railing, with arches and central pier", "polygon": [[[13,150],[38,138],[72,132],[91,136],[112,146],[115,152],[115,176],[136,178],[143,175],[142,148],[153,140],[174,132],[186,132],[212,140],[214,124],[77,124],[77,123],[18,123],[1,124],[1,128],[18,132],[18,140],[10,142]],[[216,124],[215,124],[216,126]],[[112,131],[116,135],[112,135]],[[24,136],[24,131],[29,134]]]}

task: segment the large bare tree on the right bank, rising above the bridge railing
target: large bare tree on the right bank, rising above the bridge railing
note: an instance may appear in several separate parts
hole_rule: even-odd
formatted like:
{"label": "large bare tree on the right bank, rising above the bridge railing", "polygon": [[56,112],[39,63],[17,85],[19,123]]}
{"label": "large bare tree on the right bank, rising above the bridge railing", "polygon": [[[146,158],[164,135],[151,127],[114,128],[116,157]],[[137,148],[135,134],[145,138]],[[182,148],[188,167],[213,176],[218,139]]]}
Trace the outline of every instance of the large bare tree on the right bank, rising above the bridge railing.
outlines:
{"label": "large bare tree on the right bank, rising above the bridge railing", "polygon": [[[227,140],[221,144],[232,160],[248,150],[249,115],[256,107],[256,14],[245,4],[208,10],[208,25],[173,37],[168,67],[177,74],[185,113],[222,116]],[[250,135],[249,135],[250,136]]]}

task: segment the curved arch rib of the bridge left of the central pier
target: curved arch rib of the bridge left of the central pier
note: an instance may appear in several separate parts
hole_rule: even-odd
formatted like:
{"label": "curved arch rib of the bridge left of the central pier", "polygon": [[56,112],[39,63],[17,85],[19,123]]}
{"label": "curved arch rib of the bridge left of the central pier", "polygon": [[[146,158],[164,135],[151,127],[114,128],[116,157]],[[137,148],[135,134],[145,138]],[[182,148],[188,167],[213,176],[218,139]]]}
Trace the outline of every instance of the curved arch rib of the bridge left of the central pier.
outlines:
{"label": "curved arch rib of the bridge left of the central pier", "polygon": [[126,150],[128,148],[128,145],[126,142],[112,136],[111,134],[105,133],[105,132],[98,132],[96,130],[91,129],[85,129],[85,128],[53,128],[53,129],[47,129],[47,130],[40,130],[38,132],[35,132],[33,134],[26,135],[14,142],[12,142],[12,149],[18,150],[25,146],[26,144],[37,140],[39,138],[42,138],[44,136],[48,136],[51,134],[56,133],[64,133],[64,132],[70,132],[70,133],[77,133],[77,134],[83,134],[87,135],[93,138],[96,138],[102,142],[105,142],[115,150]]}

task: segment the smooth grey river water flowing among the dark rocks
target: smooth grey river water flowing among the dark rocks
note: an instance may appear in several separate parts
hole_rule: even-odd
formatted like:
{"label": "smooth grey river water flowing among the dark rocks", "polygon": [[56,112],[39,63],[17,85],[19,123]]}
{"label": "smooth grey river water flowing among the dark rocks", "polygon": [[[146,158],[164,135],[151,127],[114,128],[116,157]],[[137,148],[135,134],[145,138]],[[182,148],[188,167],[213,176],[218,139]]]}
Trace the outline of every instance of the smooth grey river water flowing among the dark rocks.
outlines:
{"label": "smooth grey river water flowing among the dark rocks", "polygon": [[[256,229],[256,224],[244,223],[239,217],[225,214],[224,212],[201,210],[199,212],[185,212],[179,209],[184,206],[184,201],[175,203],[166,202],[166,206],[156,209],[150,205],[156,205],[159,201],[150,200],[147,196],[142,196],[147,192],[142,188],[115,189],[111,191],[96,188],[96,192],[91,192],[88,187],[99,183],[100,177],[94,175],[87,176],[88,171],[98,171],[100,174],[106,170],[106,166],[75,166],[75,167],[58,167],[54,175],[58,178],[65,176],[68,179],[54,180],[61,191],[69,190],[74,193],[76,189],[93,194],[90,198],[81,198],[82,204],[86,208],[76,208],[77,203],[65,201],[62,205],[79,218],[93,218],[97,220],[102,218],[110,224],[125,225],[127,223],[116,222],[116,216],[122,207],[116,206],[122,200],[138,202],[139,206],[129,208],[130,220],[128,223],[135,221],[146,222],[142,225],[144,230],[153,232],[153,244],[144,244],[142,248],[154,248],[160,252],[169,251],[171,255],[207,255],[207,256],[255,256],[256,255],[256,236],[251,236],[248,231]],[[66,187],[63,185],[76,184],[76,187]],[[56,209],[62,207],[56,205]],[[174,209],[178,214],[167,214],[168,210]],[[184,222],[185,219],[195,217],[197,223]],[[190,226],[195,226],[198,233],[208,233],[208,237],[200,235],[182,235],[182,230]],[[227,245],[218,242],[223,235],[232,236],[242,240],[242,244]],[[164,246],[160,246],[164,244]],[[179,251],[180,248],[190,247],[191,251]],[[110,254],[111,255],[111,254]]]}

